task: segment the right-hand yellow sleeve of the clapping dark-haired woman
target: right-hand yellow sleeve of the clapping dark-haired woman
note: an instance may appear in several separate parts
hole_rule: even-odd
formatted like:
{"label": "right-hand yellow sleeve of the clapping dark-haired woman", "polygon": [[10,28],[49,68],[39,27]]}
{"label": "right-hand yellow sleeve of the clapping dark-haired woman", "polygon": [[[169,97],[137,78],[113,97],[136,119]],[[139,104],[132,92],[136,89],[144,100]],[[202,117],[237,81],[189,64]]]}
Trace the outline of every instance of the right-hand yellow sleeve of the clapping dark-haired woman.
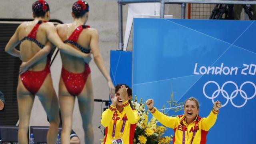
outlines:
{"label": "right-hand yellow sleeve of the clapping dark-haired woman", "polygon": [[138,112],[137,110],[132,110],[130,103],[128,102],[128,100],[126,100],[125,102],[123,102],[123,107],[124,107],[124,112],[128,118],[128,121],[131,124],[136,124],[140,117],[138,116]]}

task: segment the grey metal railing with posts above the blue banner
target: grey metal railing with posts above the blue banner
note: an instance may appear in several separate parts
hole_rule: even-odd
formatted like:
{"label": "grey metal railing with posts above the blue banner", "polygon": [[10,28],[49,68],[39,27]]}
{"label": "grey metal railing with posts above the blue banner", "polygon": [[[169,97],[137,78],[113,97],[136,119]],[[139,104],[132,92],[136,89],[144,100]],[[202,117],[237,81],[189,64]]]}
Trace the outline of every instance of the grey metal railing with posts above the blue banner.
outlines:
{"label": "grey metal railing with posts above the blue banner", "polygon": [[118,0],[118,50],[123,50],[122,5],[131,3],[160,2],[160,18],[164,18],[165,4],[181,4],[181,18],[185,18],[186,3],[196,4],[256,4],[256,0]]}

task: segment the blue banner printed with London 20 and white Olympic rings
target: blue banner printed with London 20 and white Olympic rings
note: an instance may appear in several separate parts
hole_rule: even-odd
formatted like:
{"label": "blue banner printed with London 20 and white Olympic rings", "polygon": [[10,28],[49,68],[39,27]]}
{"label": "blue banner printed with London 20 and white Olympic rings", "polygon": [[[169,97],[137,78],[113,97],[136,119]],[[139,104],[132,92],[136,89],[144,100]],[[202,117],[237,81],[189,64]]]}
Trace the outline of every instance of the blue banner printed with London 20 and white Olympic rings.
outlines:
{"label": "blue banner printed with London 20 and white Olympic rings", "polygon": [[168,116],[191,96],[201,117],[220,100],[207,144],[255,144],[255,34],[255,21],[135,18],[133,95]]}

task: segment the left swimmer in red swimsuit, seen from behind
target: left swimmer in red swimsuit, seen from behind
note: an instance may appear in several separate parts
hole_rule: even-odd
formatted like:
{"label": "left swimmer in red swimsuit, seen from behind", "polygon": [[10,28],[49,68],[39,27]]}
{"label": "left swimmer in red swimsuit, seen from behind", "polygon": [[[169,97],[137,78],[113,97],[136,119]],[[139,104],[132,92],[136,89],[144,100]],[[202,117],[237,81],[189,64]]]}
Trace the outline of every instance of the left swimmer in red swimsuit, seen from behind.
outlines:
{"label": "left swimmer in red swimsuit, seen from behind", "polygon": [[[19,112],[18,143],[28,144],[28,127],[34,98],[39,97],[50,121],[47,144],[56,144],[59,127],[59,106],[50,74],[51,43],[62,53],[70,54],[84,61],[90,60],[90,54],[75,50],[64,44],[57,29],[48,20],[50,8],[44,0],[32,5],[34,20],[23,22],[9,40],[5,51],[22,60],[18,78],[17,100]],[[20,50],[15,47],[20,44]],[[27,71],[28,70],[28,71]],[[69,138],[69,136],[68,136]],[[68,140],[69,142],[69,140]]]}

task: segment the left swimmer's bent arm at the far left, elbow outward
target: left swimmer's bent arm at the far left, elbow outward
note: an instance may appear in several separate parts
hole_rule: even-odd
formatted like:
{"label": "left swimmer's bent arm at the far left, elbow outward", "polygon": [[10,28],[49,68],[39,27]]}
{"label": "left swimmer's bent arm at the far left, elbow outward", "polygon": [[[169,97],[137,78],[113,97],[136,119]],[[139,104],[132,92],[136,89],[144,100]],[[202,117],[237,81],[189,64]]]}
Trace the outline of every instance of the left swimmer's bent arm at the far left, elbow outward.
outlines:
{"label": "left swimmer's bent arm at the far left, elbow outward", "polygon": [[[20,26],[17,28],[15,33],[13,34],[12,38],[9,40],[9,42],[5,46],[5,52],[8,54],[19,57],[20,58],[20,51],[15,48],[19,44],[19,37],[18,37],[18,30]],[[20,58],[21,59],[21,58]]]}

